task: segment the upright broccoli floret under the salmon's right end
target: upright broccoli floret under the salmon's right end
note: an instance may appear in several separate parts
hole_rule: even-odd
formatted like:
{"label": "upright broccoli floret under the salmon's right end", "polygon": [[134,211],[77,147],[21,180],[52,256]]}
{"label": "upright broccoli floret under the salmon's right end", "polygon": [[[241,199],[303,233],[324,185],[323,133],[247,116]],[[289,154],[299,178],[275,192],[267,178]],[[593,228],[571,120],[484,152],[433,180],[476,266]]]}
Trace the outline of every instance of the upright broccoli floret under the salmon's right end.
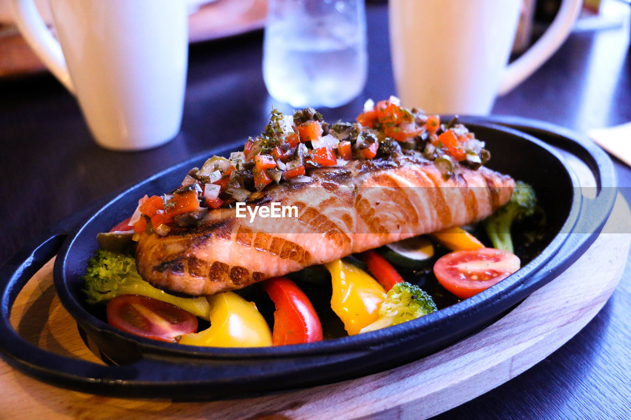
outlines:
{"label": "upright broccoli floret under the salmon's right end", "polygon": [[510,227],[513,221],[532,216],[536,209],[537,198],[533,187],[517,181],[509,202],[485,219],[484,226],[493,247],[514,252]]}

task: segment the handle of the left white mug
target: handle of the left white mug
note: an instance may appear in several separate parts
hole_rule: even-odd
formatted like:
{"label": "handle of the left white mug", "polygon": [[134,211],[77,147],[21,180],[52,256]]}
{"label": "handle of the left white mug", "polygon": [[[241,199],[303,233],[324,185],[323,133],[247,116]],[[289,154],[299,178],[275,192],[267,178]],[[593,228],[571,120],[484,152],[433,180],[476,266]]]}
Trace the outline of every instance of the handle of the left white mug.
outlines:
{"label": "handle of the left white mug", "polygon": [[13,16],[23,37],[40,57],[50,72],[74,94],[74,85],[68,73],[68,66],[61,45],[52,36],[40,16],[33,0],[11,0]]}

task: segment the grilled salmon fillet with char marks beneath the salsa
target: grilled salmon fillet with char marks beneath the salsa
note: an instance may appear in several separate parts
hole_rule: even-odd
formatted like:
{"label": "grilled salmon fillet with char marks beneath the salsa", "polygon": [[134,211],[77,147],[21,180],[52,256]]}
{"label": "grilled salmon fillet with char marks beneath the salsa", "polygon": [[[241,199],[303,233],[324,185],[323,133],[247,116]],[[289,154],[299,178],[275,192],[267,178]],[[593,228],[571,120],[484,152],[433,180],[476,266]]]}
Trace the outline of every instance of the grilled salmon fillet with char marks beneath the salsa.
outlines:
{"label": "grilled salmon fillet with char marks beneath the salsa", "polygon": [[295,206],[297,217],[237,218],[209,211],[197,226],[141,235],[138,271],[156,286],[214,295],[411,236],[486,218],[510,199],[514,180],[455,164],[445,180],[418,152],[314,169],[310,182],[284,182],[248,206]]}

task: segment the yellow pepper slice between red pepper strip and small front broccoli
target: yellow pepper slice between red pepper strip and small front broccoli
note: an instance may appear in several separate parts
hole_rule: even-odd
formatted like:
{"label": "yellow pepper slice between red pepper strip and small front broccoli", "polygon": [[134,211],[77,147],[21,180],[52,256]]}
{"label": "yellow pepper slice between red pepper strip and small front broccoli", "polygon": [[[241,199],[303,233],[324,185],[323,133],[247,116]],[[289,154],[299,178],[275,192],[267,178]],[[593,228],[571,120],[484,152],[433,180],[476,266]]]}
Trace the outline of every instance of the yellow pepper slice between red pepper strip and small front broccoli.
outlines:
{"label": "yellow pepper slice between red pepper strip and small front broccoli", "polygon": [[335,260],[325,265],[331,272],[333,285],[331,308],[344,323],[348,335],[359,334],[363,327],[379,318],[379,306],[386,298],[386,291],[353,264]]}

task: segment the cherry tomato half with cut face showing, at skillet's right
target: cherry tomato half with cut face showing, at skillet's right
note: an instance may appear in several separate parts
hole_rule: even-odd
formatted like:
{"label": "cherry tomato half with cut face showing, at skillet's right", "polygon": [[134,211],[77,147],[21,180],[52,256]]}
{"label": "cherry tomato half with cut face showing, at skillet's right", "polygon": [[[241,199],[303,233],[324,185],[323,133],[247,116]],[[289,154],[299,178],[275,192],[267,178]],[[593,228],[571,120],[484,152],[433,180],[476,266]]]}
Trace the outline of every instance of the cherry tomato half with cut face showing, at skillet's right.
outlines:
{"label": "cherry tomato half with cut face showing, at skillet's right", "polygon": [[494,248],[450,252],[433,267],[439,283],[463,299],[490,288],[517,270],[517,255]]}

